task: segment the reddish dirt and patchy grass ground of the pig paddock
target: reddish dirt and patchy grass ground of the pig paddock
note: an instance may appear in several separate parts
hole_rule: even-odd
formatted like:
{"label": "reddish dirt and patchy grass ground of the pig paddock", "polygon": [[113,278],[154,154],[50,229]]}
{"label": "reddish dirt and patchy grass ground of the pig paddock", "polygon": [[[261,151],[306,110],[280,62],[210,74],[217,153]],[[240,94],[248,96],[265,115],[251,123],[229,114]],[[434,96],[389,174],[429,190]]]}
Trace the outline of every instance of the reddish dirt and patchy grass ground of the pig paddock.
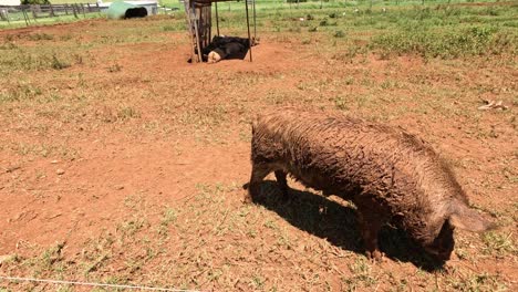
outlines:
{"label": "reddish dirt and patchy grass ground of the pig paddock", "polygon": [[[183,13],[0,30],[0,291],[518,289],[516,2],[260,1],[253,62],[214,65],[186,62]],[[436,267],[386,227],[371,262],[348,201],[270,176],[244,204],[250,121],[283,105],[417,134],[499,228]]]}

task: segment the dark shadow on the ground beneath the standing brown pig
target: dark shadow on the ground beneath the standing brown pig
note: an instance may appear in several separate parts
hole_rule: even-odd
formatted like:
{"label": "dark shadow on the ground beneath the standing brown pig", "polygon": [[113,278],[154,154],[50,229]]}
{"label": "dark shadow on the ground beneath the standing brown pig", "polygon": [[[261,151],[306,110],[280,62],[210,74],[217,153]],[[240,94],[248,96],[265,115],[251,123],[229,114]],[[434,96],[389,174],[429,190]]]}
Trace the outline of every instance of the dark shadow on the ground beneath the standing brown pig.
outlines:
{"label": "dark shadow on the ground beneath the standing brown pig", "polygon": [[[261,196],[252,200],[301,230],[327,239],[344,250],[364,254],[354,207],[296,189],[290,189],[290,199],[283,201],[277,182],[272,180],[263,181]],[[438,270],[444,265],[444,262],[437,262],[413,242],[403,230],[386,226],[381,230],[379,241],[380,249],[391,260],[412,262],[426,271]]]}

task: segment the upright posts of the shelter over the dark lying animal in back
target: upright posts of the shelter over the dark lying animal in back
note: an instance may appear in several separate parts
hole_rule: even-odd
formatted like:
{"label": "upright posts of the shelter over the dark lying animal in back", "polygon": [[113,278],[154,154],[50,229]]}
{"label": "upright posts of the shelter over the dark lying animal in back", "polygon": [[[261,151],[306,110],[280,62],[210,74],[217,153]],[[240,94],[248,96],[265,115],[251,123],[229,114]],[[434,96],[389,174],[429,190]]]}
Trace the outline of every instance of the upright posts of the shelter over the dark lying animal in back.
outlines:
{"label": "upright posts of the shelter over the dark lying animal in back", "polygon": [[[189,39],[191,46],[193,62],[203,62],[203,50],[210,44],[211,41],[211,14],[213,3],[216,10],[216,33],[219,36],[219,13],[218,2],[229,2],[235,0],[185,0],[185,13],[187,17],[187,27],[189,30]],[[247,17],[247,31],[248,31],[248,50],[250,62],[252,62],[252,38],[250,34],[250,17],[249,4],[251,2],[253,13],[253,40],[256,40],[257,25],[256,25],[256,0],[245,0],[245,10]]]}

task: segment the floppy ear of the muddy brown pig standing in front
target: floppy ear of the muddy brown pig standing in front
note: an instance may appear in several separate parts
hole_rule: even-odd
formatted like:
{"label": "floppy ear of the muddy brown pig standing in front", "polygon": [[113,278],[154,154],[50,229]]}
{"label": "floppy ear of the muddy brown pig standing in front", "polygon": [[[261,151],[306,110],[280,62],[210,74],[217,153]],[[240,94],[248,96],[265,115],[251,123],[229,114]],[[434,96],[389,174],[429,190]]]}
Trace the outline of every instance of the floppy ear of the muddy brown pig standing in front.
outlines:
{"label": "floppy ear of the muddy brown pig standing in front", "polygon": [[454,213],[449,216],[449,223],[456,228],[472,232],[484,232],[497,227],[494,222],[484,219],[477,211],[462,202],[455,206]]}

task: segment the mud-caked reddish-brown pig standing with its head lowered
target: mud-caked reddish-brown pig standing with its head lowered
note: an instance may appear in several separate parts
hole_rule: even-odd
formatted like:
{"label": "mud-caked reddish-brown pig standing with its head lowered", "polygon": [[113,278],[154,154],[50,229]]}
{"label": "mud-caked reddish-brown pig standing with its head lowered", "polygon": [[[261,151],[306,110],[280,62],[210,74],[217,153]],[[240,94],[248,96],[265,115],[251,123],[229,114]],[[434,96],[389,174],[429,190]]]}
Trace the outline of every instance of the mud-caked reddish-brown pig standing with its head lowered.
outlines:
{"label": "mud-caked reddish-brown pig standing with its head lowered", "polygon": [[324,195],[352,200],[370,258],[383,253],[384,223],[403,228],[442,261],[454,249],[455,228],[494,228],[468,207],[452,168],[418,137],[402,128],[352,117],[281,108],[252,123],[252,171],[246,201],[260,196],[271,171],[284,197],[287,174]]}

